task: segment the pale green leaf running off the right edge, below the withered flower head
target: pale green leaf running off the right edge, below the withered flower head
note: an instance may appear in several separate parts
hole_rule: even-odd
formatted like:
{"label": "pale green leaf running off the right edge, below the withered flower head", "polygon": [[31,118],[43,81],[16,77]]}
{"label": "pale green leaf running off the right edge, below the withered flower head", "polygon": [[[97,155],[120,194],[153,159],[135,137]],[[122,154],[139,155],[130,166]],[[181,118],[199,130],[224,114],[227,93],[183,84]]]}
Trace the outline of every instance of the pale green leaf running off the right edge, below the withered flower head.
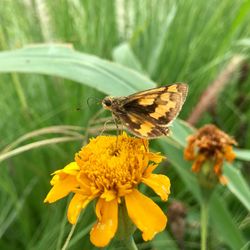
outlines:
{"label": "pale green leaf running off the right edge, below the withered flower head", "polygon": [[250,189],[240,171],[235,166],[225,163],[224,173],[228,178],[227,187],[229,190],[250,211]]}

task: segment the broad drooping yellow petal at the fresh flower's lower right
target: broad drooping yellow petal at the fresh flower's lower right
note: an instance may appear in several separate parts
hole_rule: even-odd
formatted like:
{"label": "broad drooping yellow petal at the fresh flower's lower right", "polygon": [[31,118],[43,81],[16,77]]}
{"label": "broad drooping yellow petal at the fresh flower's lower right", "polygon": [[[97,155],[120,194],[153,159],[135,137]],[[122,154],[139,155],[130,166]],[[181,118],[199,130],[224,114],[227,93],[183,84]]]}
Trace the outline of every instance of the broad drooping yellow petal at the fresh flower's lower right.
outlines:
{"label": "broad drooping yellow petal at the fresh flower's lower right", "polygon": [[151,240],[156,233],[164,230],[167,217],[150,198],[134,189],[125,196],[128,215],[142,231],[145,241]]}

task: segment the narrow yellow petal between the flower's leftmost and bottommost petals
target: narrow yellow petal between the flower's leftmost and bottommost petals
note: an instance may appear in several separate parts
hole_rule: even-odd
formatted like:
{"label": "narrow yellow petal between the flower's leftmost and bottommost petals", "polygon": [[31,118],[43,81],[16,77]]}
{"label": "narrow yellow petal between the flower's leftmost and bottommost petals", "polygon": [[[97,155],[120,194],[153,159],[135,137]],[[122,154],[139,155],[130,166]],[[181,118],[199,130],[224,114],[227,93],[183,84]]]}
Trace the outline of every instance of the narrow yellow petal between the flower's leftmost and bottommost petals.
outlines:
{"label": "narrow yellow petal between the flower's leftmost and bottommost petals", "polygon": [[83,196],[80,194],[74,195],[69,203],[67,213],[68,220],[71,224],[75,224],[77,222],[81,210],[84,209],[93,198],[94,197]]}

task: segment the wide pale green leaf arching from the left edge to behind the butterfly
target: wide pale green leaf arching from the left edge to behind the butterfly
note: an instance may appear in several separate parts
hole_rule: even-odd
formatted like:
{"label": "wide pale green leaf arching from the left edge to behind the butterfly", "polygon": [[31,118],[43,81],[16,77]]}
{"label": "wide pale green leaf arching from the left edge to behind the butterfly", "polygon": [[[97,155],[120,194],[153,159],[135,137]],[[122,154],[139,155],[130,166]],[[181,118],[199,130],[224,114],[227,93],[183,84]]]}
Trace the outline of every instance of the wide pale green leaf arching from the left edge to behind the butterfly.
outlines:
{"label": "wide pale green leaf arching from the left edge to behind the butterfly", "polygon": [[156,86],[132,69],[59,45],[1,52],[0,72],[60,76],[115,96]]}

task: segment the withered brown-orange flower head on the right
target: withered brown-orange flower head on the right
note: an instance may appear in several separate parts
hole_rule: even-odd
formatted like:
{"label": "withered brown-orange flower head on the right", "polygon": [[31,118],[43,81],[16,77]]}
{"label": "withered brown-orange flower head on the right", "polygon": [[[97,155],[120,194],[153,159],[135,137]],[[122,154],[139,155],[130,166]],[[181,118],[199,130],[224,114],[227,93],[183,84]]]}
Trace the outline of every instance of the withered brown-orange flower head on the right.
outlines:
{"label": "withered brown-orange flower head on the right", "polygon": [[[188,137],[184,157],[186,160],[194,161],[193,172],[200,172],[206,162],[212,163],[213,175],[215,174],[222,184],[226,184],[227,180],[222,175],[223,161],[231,162],[235,159],[232,146],[236,144],[229,135],[215,125],[208,124]],[[208,174],[211,176],[211,173]]]}

